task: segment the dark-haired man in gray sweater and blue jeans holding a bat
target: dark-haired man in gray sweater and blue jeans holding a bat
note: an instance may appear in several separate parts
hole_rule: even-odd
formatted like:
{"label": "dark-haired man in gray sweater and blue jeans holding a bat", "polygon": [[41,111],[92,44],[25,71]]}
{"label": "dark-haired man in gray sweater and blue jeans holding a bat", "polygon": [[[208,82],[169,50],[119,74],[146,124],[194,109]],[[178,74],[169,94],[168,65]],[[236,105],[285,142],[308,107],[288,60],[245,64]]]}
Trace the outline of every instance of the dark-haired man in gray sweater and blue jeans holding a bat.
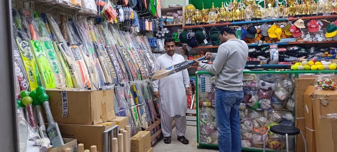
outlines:
{"label": "dark-haired man in gray sweater and blue jeans holding a bat", "polygon": [[201,70],[215,74],[215,112],[220,151],[241,151],[239,105],[243,100],[242,71],[248,57],[247,44],[235,37],[235,30],[224,27],[219,34],[217,53],[206,53],[213,64],[194,60]]}

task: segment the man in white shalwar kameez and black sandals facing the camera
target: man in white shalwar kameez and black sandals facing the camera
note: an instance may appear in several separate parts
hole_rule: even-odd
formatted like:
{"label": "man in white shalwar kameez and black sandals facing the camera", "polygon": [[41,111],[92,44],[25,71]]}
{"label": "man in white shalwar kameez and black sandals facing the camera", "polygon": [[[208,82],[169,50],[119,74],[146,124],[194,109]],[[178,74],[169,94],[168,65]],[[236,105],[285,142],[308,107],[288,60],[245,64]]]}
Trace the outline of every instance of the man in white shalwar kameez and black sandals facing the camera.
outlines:
{"label": "man in white shalwar kameez and black sandals facing the camera", "polygon": [[[175,41],[165,39],[165,54],[156,59],[154,70],[160,70],[185,61],[184,57],[175,54]],[[190,93],[190,78],[187,69],[169,75],[153,83],[153,94],[160,99],[161,131],[164,142],[171,143],[172,121],[176,121],[178,140],[184,144],[189,141],[185,138],[187,95]]]}

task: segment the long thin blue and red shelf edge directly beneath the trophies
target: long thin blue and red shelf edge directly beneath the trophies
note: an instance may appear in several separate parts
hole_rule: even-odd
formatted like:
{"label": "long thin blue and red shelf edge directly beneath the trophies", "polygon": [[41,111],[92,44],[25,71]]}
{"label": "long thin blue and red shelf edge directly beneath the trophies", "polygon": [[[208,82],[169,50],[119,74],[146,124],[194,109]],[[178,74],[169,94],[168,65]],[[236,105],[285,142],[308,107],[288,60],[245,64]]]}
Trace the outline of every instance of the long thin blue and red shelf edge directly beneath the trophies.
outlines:
{"label": "long thin blue and red shelf edge directly beneath the trophies", "polygon": [[221,24],[206,24],[206,25],[192,25],[184,26],[184,29],[193,29],[198,27],[221,27],[221,26],[230,26],[230,25],[243,25],[243,24],[256,24],[256,23],[267,23],[267,22],[280,22],[280,21],[294,21],[298,19],[309,20],[309,19],[329,19],[337,18],[337,15],[325,15],[325,16],[310,16],[310,17],[292,17],[292,18],[282,18],[274,20],[257,20],[257,21],[242,21],[242,22],[227,22]]}

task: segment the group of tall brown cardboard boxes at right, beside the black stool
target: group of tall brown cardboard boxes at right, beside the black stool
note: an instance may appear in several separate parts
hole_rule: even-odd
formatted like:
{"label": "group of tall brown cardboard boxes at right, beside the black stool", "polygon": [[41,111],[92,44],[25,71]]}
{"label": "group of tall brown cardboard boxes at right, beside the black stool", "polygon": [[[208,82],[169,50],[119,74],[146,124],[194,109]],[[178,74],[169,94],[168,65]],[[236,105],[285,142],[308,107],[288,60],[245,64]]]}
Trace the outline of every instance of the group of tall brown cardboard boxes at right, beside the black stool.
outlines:
{"label": "group of tall brown cardboard boxes at right, beside the black stool", "polygon": [[[318,91],[313,87],[317,75],[300,75],[295,81],[295,125],[306,138],[307,151],[337,151],[337,91]],[[300,136],[296,151],[304,151]]]}

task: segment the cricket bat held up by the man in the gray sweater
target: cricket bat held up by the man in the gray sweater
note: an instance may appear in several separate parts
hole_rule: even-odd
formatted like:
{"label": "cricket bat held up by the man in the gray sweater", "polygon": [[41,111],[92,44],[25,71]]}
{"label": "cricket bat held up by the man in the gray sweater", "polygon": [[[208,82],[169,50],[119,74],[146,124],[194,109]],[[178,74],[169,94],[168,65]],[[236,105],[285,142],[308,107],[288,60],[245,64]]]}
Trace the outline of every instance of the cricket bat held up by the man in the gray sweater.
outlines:
{"label": "cricket bat held up by the man in the gray sweater", "polygon": [[[204,57],[198,58],[197,60],[201,61],[201,60],[204,60],[205,58],[206,57],[204,56]],[[174,73],[177,73],[177,72],[180,72],[184,69],[189,68],[190,65],[192,65],[192,64],[194,64],[194,61],[190,61],[190,62],[184,61],[184,62],[175,64],[175,65],[172,65],[170,67],[166,67],[164,69],[158,70],[156,72],[150,73],[149,74],[150,80],[153,82],[153,81],[165,78],[168,75],[172,75]]]}

